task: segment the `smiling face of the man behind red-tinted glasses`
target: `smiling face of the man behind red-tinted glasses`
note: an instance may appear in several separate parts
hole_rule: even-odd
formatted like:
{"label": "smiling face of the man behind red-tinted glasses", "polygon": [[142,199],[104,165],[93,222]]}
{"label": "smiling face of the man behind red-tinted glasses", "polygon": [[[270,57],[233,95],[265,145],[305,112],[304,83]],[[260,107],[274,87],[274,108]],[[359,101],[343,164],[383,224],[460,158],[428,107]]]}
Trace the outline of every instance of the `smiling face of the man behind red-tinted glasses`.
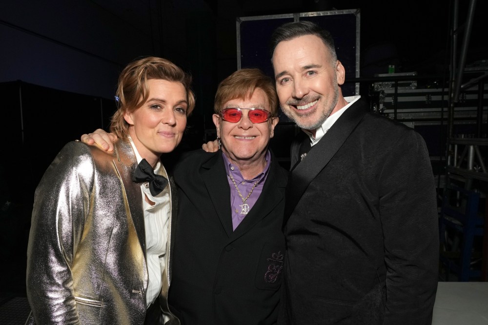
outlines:
{"label": "smiling face of the man behind red-tinted glasses", "polygon": [[264,163],[269,139],[273,137],[278,118],[270,117],[266,122],[253,124],[248,118],[249,109],[245,108],[270,111],[266,94],[261,88],[256,88],[251,98],[230,100],[223,108],[231,107],[242,109],[243,117],[237,123],[224,121],[219,114],[212,116],[217,136],[221,138],[222,151],[238,166]]}

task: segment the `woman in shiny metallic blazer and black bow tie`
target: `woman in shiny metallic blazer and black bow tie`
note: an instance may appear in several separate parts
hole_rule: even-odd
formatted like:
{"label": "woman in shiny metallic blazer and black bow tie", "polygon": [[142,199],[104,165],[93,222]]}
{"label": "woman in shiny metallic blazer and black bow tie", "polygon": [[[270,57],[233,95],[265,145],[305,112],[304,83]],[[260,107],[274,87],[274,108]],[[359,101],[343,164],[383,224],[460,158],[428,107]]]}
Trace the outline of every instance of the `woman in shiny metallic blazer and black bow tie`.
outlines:
{"label": "woman in shiny metallic blazer and black bow tie", "polygon": [[182,139],[190,83],[170,61],[130,63],[114,151],[69,142],[48,167],[32,213],[27,324],[179,324],[166,300],[177,197],[160,156]]}

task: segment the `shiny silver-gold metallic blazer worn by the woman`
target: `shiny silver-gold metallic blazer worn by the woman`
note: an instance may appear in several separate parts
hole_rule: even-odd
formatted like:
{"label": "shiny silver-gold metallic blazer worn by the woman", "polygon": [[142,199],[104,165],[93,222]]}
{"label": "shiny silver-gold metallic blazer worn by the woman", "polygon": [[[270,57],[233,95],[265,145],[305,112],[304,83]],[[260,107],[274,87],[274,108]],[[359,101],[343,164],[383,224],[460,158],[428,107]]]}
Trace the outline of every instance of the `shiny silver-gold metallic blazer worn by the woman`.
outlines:
{"label": "shiny silver-gold metallic blazer worn by the woman", "polygon": [[[27,249],[26,324],[143,324],[148,282],[140,184],[130,142],[113,152],[69,142],[46,170],[34,200]],[[162,175],[167,177],[164,168]],[[177,195],[170,179],[171,215]],[[168,229],[159,302],[167,292],[173,242]]]}

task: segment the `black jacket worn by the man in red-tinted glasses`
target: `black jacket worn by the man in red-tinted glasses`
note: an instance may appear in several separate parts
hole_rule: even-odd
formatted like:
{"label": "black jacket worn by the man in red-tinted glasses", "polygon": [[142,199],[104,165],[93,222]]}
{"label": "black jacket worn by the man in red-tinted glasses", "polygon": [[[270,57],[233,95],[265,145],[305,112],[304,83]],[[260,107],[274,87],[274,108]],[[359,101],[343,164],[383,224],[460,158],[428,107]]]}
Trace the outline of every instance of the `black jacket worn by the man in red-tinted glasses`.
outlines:
{"label": "black jacket worn by the man in red-tinted glasses", "polygon": [[[179,216],[169,292],[183,324],[274,324],[285,255],[287,171],[272,155],[263,191],[232,230],[222,152],[177,164]],[[174,230],[175,231],[175,230]]]}

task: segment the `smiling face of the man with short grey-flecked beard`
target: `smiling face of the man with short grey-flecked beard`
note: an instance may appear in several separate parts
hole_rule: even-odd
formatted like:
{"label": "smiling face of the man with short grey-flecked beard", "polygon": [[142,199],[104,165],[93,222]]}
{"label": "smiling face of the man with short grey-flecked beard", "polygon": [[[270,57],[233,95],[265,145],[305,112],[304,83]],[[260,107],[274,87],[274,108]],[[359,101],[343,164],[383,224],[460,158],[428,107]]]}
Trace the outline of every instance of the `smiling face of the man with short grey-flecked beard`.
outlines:
{"label": "smiling face of the man with short grey-flecked beard", "polygon": [[346,105],[339,87],[344,83],[344,66],[331,62],[319,37],[305,35],[278,43],[272,61],[282,110],[299,127],[314,131]]}

